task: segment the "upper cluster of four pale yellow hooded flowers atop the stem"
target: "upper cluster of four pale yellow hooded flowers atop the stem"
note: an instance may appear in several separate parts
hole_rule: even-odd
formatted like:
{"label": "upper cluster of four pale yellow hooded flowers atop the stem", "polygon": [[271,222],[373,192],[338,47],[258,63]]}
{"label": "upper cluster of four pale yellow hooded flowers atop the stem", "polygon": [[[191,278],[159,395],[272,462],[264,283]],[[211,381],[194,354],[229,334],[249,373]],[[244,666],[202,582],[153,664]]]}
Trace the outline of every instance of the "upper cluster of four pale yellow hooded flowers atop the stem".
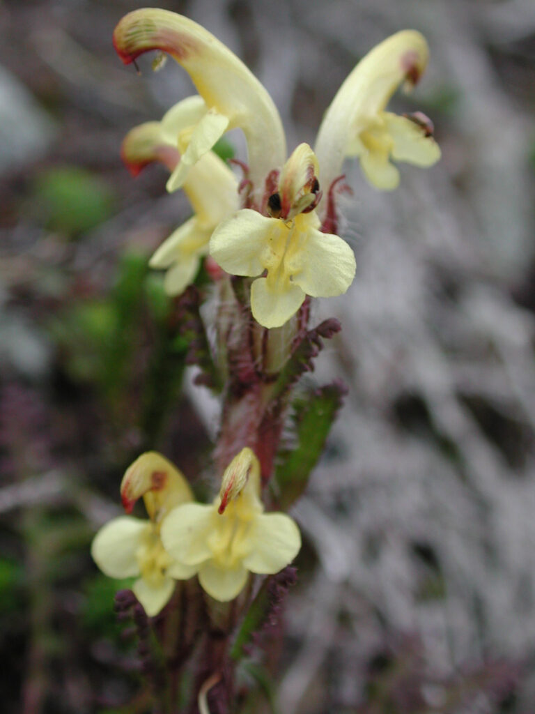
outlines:
{"label": "upper cluster of four pale yellow hooded flowers atop the stem", "polygon": [[[391,190],[399,183],[392,159],[431,166],[440,157],[427,117],[385,111],[399,84],[410,88],[425,69],[427,42],[417,31],[398,32],[372,49],[327,109],[314,151],[301,144],[287,160],[269,94],[203,27],[169,11],[142,9],[121,20],[113,39],[126,64],[150,50],[170,54],[198,91],[161,122],[133,129],[123,144],[134,172],[161,161],[171,172],[168,191],[183,188],[193,207],[193,218],[151,258],[154,268],[168,269],[170,295],[193,281],[210,253],[230,275],[256,278],[253,317],[266,328],[282,326],[305,296],[340,295],[355,276],[350,247],[330,232],[337,226],[334,193],[345,158],[357,156],[367,180]],[[239,186],[212,151],[235,128],[248,144]]]}

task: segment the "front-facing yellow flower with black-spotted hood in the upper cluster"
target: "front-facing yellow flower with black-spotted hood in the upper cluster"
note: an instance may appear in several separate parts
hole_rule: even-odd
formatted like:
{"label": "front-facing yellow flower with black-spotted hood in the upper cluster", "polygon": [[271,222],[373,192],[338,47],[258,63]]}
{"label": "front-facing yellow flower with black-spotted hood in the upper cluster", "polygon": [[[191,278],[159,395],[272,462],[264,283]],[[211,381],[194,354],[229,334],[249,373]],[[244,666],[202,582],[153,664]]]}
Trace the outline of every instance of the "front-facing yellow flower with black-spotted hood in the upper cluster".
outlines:
{"label": "front-facing yellow flower with black-spotted hood in the upper cluster", "polygon": [[320,198],[317,159],[300,144],[282,169],[278,190],[262,216],[244,208],[220,223],[210,238],[210,255],[228,273],[258,277],[251,309],[267,328],[282,326],[306,295],[345,293],[355,276],[355,256],[342,238],[322,233],[314,210]]}

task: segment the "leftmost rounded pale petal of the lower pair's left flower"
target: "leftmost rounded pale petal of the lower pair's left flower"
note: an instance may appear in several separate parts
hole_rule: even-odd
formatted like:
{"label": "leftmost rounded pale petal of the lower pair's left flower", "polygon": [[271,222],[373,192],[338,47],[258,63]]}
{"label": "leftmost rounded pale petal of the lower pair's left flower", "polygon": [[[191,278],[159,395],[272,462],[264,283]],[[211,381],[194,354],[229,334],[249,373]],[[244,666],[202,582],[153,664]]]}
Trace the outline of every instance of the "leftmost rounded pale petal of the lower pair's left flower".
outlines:
{"label": "leftmost rounded pale petal of the lower pair's left flower", "polygon": [[136,553],[150,527],[148,521],[140,518],[119,516],[98,531],[91,543],[91,555],[104,575],[109,578],[139,575]]}

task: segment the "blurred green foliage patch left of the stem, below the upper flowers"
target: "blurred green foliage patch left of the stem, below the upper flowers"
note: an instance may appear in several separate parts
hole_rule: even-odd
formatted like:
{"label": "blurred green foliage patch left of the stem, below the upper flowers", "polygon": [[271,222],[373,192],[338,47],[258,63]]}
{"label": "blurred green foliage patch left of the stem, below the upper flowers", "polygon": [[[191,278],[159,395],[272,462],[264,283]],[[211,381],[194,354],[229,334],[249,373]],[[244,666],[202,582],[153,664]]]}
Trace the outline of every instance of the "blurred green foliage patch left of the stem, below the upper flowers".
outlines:
{"label": "blurred green foliage patch left of the stem, below the upper flowers", "polygon": [[154,448],[178,401],[188,354],[180,302],[143,253],[125,253],[106,296],[66,303],[48,324],[68,379],[93,388],[109,423]]}

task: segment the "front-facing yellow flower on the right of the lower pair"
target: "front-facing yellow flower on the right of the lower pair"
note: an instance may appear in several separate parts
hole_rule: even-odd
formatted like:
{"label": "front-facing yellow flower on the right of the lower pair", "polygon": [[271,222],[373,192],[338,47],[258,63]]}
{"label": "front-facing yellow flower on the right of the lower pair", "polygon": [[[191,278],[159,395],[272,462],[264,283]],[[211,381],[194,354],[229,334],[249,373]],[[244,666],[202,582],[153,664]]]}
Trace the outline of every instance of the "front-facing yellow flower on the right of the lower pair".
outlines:
{"label": "front-facing yellow flower on the right of the lower pair", "polygon": [[165,550],[184,567],[195,568],[203,589],[226,602],[240,593],[248,571],[277,573],[301,547],[299,528],[285,513],[263,513],[260,464],[244,448],[223,475],[213,505],[185,503],[163,522]]}

